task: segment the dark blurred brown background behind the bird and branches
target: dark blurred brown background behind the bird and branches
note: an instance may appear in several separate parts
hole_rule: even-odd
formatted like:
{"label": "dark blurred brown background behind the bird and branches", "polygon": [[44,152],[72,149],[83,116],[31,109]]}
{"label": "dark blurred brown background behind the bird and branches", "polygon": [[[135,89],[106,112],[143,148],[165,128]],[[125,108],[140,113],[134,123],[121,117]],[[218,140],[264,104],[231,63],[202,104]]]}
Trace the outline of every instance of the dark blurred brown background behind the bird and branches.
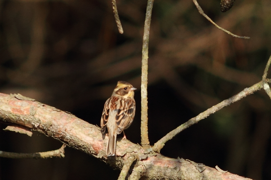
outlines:
{"label": "dark blurred brown background behind the bird and branches", "polygon": [[[261,80],[271,54],[271,1],[237,0],[220,11],[219,0],[154,1],[149,44],[149,138],[169,131]],[[140,81],[147,1],[118,0],[119,34],[105,0],[0,1],[0,92],[20,93],[100,123],[117,81],[130,82],[137,111],[125,131],[140,143]],[[270,75],[268,75],[270,78]],[[271,179],[271,101],[256,92],[181,132],[161,153],[190,159],[257,180]],[[3,129],[5,126],[0,125]],[[0,130],[0,150],[42,152],[55,139]],[[0,158],[0,179],[117,179],[119,170],[72,148],[63,159]]]}

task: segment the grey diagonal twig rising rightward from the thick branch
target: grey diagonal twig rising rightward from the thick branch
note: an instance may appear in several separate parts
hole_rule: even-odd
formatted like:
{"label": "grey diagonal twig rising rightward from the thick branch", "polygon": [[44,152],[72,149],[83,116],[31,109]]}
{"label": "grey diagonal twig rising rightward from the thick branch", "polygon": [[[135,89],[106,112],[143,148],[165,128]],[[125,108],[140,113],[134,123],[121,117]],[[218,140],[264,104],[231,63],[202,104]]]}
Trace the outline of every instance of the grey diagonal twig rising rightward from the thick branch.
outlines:
{"label": "grey diagonal twig rising rightward from the thick branch", "polygon": [[[270,79],[266,79],[266,82],[270,83]],[[191,126],[191,125],[193,125],[193,124],[195,124],[197,122],[199,122],[201,119],[206,118],[210,114],[213,114],[213,113],[219,111],[220,109],[224,108],[225,106],[228,106],[231,103],[236,102],[236,101],[246,97],[247,95],[252,94],[255,91],[263,89],[263,85],[266,82],[260,81],[257,84],[254,84],[253,86],[251,86],[249,88],[245,88],[243,91],[241,91],[238,94],[232,96],[231,98],[226,99],[226,100],[218,103],[217,105],[212,106],[211,108],[207,109],[206,111],[200,113],[196,117],[189,119],[187,122],[180,125],[176,129],[170,131],[167,135],[165,135],[163,138],[161,138],[159,141],[157,141],[153,146],[153,150],[156,151],[156,152],[160,152],[160,150],[163,148],[164,144],[168,140],[172,139],[174,136],[179,134],[184,129],[188,128],[189,126]]]}

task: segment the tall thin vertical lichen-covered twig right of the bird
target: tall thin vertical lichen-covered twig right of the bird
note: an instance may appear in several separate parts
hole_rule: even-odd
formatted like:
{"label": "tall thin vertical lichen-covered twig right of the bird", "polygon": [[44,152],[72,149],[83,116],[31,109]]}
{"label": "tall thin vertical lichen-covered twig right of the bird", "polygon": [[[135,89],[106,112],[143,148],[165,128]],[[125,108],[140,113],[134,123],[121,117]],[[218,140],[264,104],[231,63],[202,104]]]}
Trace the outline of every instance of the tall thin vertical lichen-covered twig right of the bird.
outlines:
{"label": "tall thin vertical lichen-covered twig right of the bird", "polygon": [[141,74],[141,145],[149,147],[148,138],[148,99],[147,99],[147,84],[148,84],[148,50],[149,36],[151,24],[151,11],[154,0],[148,0],[146,18],[144,24],[143,47],[142,47],[142,74]]}

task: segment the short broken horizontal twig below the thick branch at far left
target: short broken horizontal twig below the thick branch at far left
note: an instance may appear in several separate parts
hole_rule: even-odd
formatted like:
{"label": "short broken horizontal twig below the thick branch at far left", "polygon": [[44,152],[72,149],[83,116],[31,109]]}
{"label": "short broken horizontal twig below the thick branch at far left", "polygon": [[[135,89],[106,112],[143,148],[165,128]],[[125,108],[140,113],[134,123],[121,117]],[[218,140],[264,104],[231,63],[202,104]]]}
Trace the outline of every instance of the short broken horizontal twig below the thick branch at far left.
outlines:
{"label": "short broken horizontal twig below the thick branch at far left", "polygon": [[0,157],[13,158],[13,159],[22,159],[22,158],[46,159],[46,158],[53,158],[53,157],[64,158],[65,147],[66,147],[66,144],[63,144],[61,148],[57,150],[47,151],[47,152],[36,152],[36,153],[15,153],[15,152],[0,151]]}

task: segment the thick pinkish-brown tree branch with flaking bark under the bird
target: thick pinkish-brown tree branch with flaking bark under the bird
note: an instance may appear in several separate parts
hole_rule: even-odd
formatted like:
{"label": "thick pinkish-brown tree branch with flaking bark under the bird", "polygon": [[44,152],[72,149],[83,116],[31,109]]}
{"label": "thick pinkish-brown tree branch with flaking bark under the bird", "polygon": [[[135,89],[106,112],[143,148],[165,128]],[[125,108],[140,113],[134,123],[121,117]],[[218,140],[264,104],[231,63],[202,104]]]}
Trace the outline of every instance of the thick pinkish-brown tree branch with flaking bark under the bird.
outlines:
{"label": "thick pinkish-brown tree branch with flaking bark under the bird", "polygon": [[[110,163],[121,169],[130,155],[139,157],[130,179],[238,179],[249,180],[229,172],[218,172],[215,168],[184,159],[172,159],[160,154],[146,154],[144,149],[128,140],[117,141],[115,161],[105,155],[107,136],[102,140],[99,127],[89,124],[72,114],[33,101],[18,99],[15,95],[0,93],[0,121],[11,122],[55,138],[70,147]],[[199,168],[200,167],[200,168]],[[205,170],[203,170],[205,169]]]}

